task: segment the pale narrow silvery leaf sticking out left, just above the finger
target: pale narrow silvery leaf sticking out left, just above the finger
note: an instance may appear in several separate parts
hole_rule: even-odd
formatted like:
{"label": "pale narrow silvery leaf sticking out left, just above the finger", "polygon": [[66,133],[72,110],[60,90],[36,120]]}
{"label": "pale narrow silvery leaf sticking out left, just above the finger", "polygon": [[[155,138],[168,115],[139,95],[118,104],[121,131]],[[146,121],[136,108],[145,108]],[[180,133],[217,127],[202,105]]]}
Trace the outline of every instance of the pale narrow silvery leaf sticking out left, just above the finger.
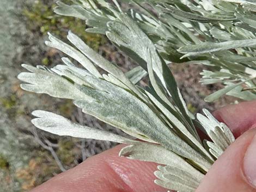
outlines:
{"label": "pale narrow silvery leaf sticking out left, just above the finger", "polygon": [[32,119],[35,127],[60,136],[65,135],[75,138],[97,139],[124,144],[139,143],[139,141],[127,139],[107,131],[78,125],[63,116],[51,112],[35,110],[32,112],[32,115],[37,117]]}

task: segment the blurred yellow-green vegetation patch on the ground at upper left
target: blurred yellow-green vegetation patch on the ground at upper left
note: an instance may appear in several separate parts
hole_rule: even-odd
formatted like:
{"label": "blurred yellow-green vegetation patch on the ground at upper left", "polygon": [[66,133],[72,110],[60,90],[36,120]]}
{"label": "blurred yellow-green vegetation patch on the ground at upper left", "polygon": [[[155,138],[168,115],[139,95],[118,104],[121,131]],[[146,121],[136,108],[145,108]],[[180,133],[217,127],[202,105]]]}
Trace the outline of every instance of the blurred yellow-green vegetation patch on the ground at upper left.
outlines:
{"label": "blurred yellow-green vegetation patch on the ground at upper left", "polygon": [[[70,1],[64,2],[68,3]],[[86,26],[83,20],[59,16],[53,12],[54,7],[56,7],[56,4],[44,3],[44,1],[35,1],[32,5],[28,4],[23,9],[23,15],[27,19],[27,28],[33,32],[40,31],[42,35],[51,32],[62,37],[66,36],[68,30],[71,30],[76,34],[80,34],[81,39],[96,51],[100,45],[105,44],[106,38],[103,35],[85,32]],[[47,59],[44,58],[42,63],[47,65]]]}

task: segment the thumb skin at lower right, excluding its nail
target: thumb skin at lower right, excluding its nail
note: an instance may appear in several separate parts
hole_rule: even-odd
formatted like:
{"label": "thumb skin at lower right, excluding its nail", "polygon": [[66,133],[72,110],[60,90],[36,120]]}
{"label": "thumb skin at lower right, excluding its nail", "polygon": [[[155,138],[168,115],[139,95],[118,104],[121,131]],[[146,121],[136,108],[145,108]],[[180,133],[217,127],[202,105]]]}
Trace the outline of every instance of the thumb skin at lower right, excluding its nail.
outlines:
{"label": "thumb skin at lower right, excluding its nail", "polygon": [[196,192],[255,192],[243,174],[245,153],[255,134],[256,129],[251,129],[236,139],[212,165]]}

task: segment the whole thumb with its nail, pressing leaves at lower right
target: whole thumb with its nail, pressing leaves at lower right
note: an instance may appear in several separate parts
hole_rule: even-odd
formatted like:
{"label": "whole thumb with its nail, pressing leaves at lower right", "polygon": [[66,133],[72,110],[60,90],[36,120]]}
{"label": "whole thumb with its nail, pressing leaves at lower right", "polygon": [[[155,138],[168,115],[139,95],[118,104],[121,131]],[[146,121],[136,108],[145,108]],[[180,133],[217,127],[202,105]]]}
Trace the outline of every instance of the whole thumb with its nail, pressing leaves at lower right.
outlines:
{"label": "whole thumb with its nail, pressing leaves at lower right", "polygon": [[256,129],[251,129],[231,144],[196,192],[256,192],[255,134]]}

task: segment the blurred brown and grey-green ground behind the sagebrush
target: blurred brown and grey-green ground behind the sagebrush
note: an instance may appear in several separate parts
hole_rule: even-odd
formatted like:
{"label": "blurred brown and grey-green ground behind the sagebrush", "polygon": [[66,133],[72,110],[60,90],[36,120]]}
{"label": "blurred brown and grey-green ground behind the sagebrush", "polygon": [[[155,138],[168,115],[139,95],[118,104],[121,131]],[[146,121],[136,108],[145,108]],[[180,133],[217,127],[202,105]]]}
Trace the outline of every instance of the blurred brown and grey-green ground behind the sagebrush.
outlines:
{"label": "blurred brown and grey-green ground behind the sagebrush", "polygon": [[[20,89],[16,77],[22,71],[22,63],[48,67],[61,63],[63,54],[44,44],[48,31],[65,41],[68,30],[72,30],[90,47],[117,63],[122,70],[127,71],[136,66],[105,36],[84,32],[86,26],[83,21],[54,14],[52,8],[55,2],[0,1],[0,192],[28,191],[115,145],[107,141],[60,138],[38,131],[30,122],[31,112],[35,109],[62,114],[81,125],[124,134],[83,114],[69,100],[58,100]],[[64,2],[68,3],[69,0]],[[170,67],[192,113],[202,108],[214,110],[232,102],[229,97],[211,104],[203,101],[206,95],[221,85],[200,85],[202,66],[172,64]]]}

